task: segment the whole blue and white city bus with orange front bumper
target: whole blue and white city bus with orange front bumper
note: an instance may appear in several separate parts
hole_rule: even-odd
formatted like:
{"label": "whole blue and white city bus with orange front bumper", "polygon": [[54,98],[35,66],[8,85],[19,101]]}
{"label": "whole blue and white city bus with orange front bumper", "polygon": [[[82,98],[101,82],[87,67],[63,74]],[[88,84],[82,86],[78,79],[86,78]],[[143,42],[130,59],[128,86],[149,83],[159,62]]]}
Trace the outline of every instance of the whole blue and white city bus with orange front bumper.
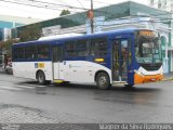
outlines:
{"label": "whole blue and white city bus with orange front bumper", "polygon": [[163,78],[159,35],[122,29],[14,43],[13,74],[54,82],[134,86]]}

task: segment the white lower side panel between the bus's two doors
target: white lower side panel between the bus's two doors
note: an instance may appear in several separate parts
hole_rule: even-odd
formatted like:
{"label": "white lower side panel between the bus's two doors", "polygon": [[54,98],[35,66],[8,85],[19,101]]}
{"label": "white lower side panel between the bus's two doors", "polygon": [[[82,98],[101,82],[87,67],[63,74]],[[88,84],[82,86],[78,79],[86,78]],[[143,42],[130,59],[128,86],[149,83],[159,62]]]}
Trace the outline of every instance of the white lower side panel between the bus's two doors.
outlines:
{"label": "white lower side panel between the bus's two doors", "polygon": [[105,70],[111,79],[111,70],[101,64],[86,61],[65,61],[64,77],[66,81],[94,83],[95,74],[98,70]]}

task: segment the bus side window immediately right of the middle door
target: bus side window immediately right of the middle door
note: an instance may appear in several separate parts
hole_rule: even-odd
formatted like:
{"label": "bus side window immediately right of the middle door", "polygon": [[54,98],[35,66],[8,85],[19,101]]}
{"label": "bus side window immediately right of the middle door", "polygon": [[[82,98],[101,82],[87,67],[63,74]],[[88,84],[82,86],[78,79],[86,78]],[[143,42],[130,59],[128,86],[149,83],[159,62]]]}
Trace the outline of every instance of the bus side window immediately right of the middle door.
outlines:
{"label": "bus side window immediately right of the middle door", "polygon": [[67,57],[77,56],[77,44],[76,44],[76,41],[67,41],[65,43],[65,48],[66,48],[66,56]]}

